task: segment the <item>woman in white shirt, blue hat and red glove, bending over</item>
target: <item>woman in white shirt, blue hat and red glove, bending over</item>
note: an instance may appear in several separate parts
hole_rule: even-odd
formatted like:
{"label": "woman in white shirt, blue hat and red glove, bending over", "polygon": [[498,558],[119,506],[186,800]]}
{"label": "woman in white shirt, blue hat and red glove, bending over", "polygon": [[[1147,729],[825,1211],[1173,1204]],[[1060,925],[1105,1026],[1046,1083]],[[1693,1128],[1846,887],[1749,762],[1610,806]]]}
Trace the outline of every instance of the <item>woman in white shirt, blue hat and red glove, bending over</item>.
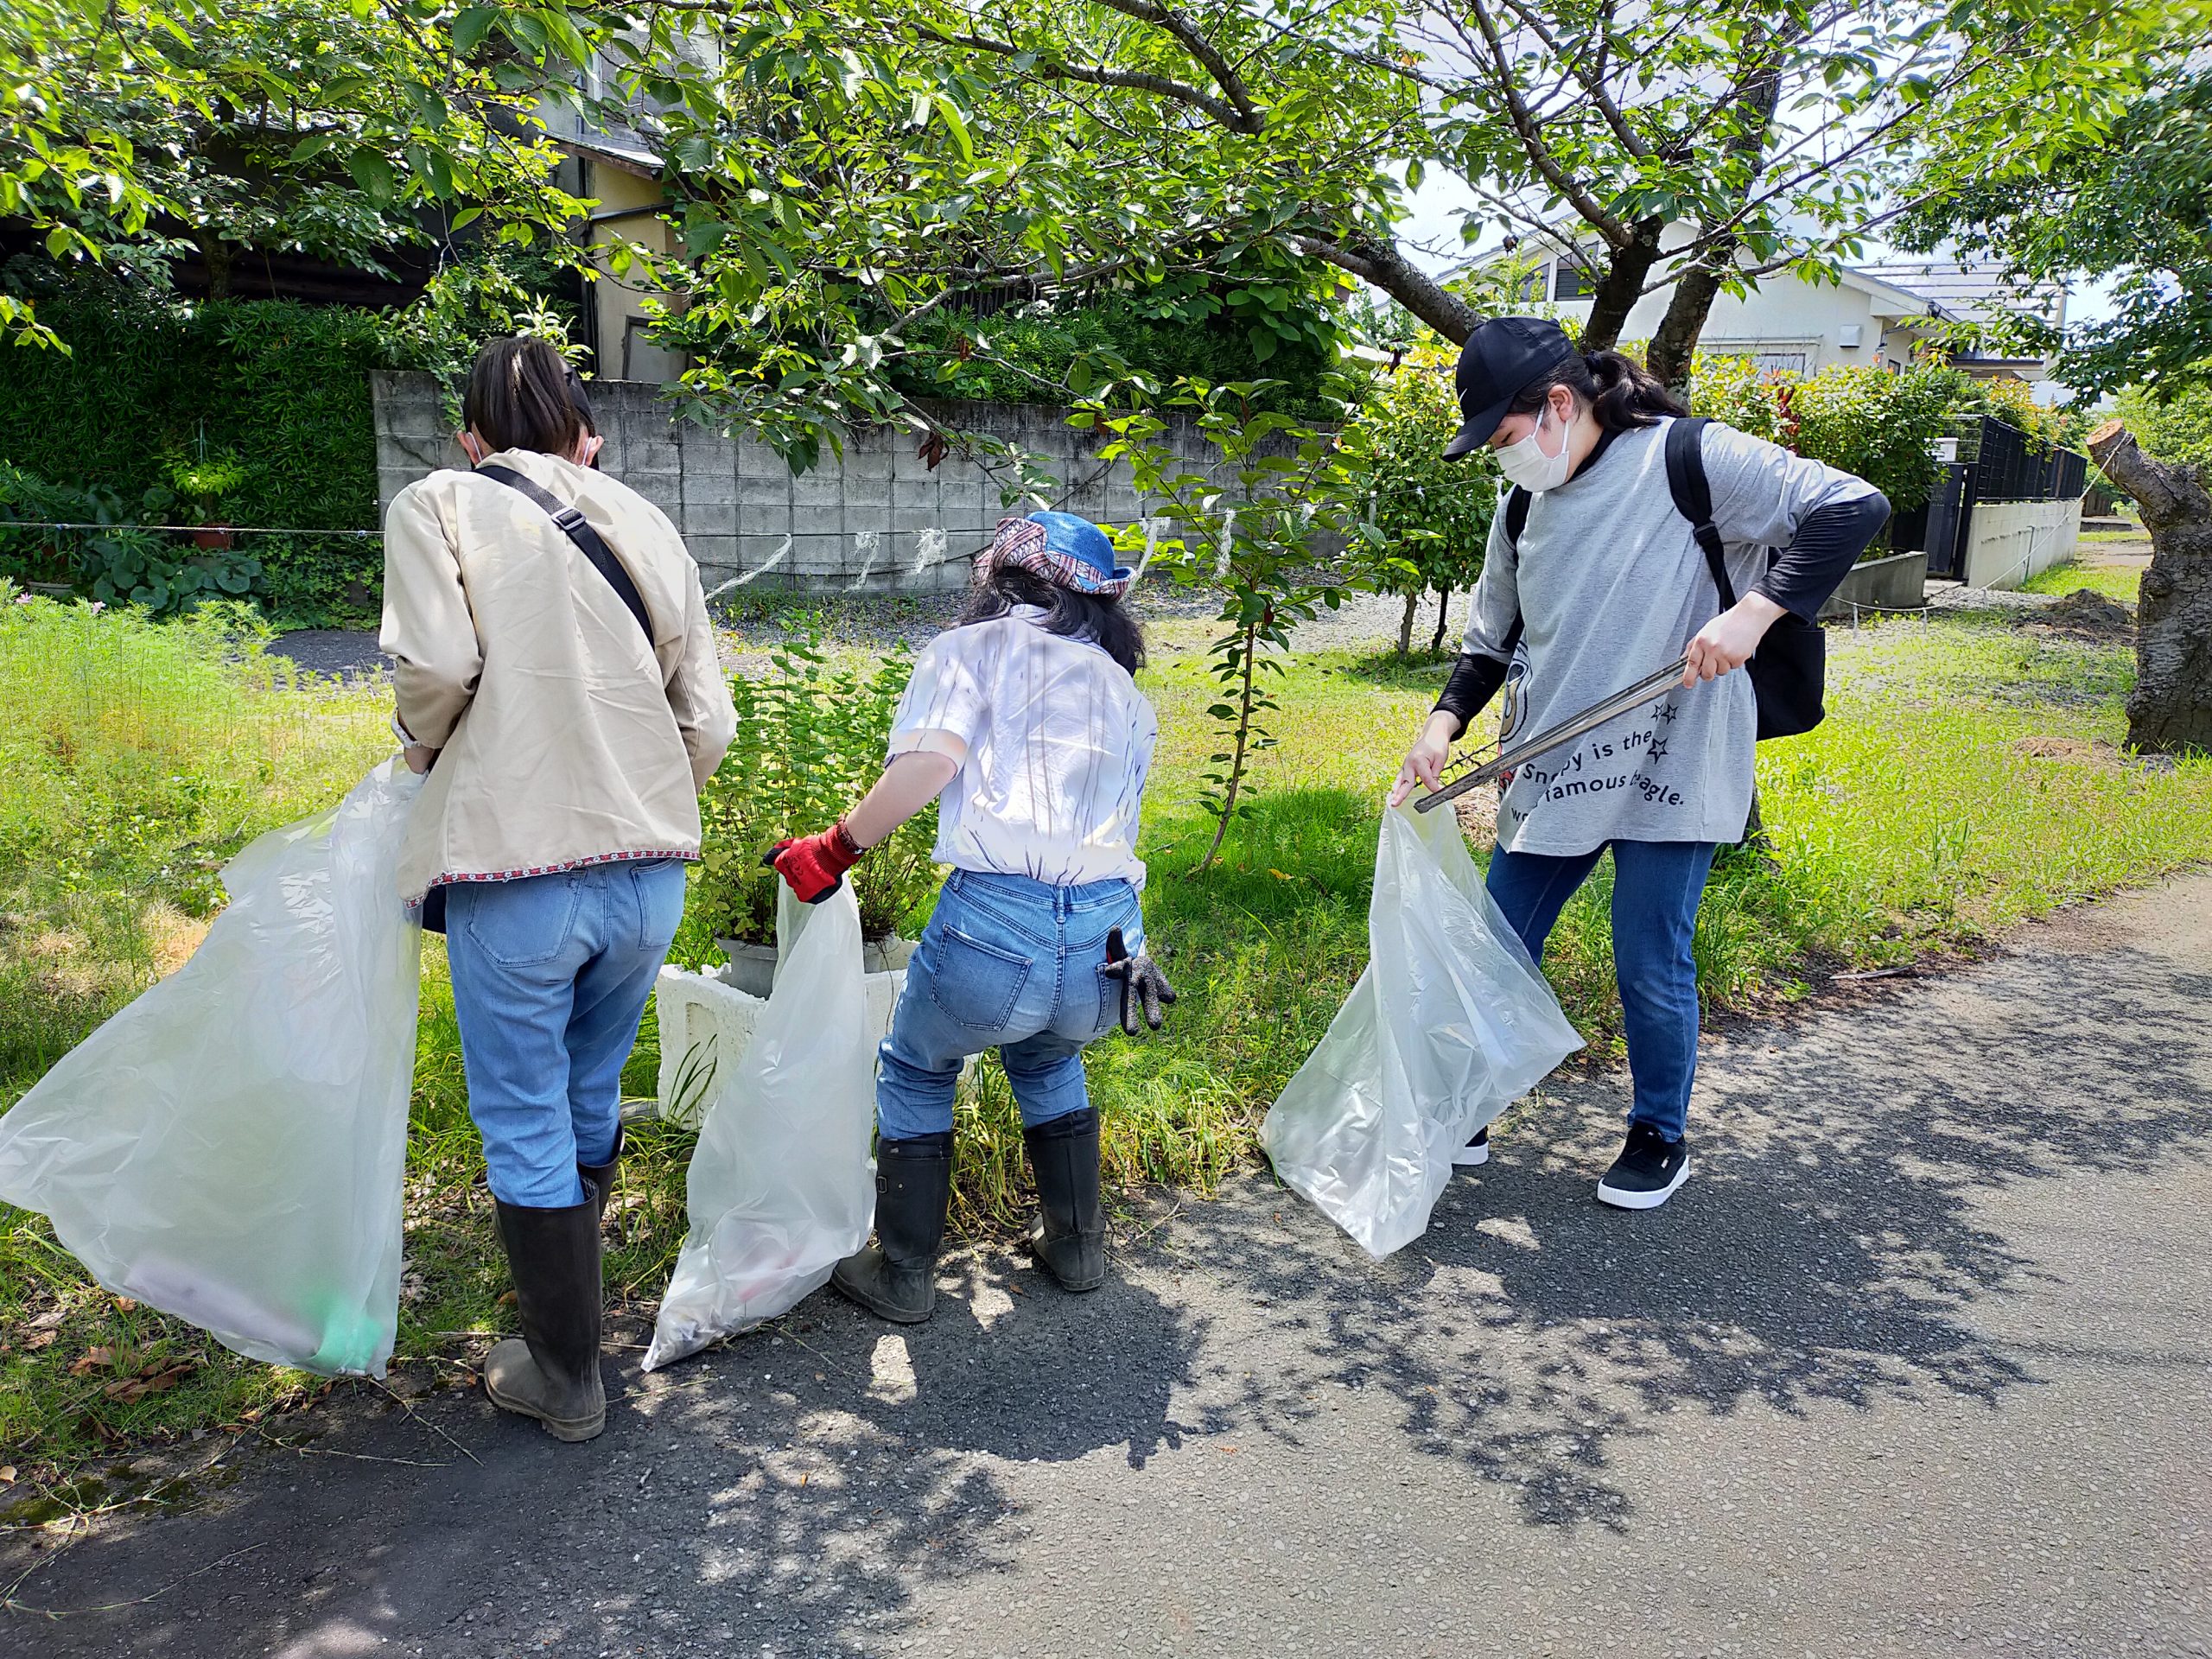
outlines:
{"label": "woman in white shirt, blue hat and red glove, bending over", "polygon": [[953,1088],[998,1048],[1037,1179],[1031,1248],[1066,1290],[1106,1281],[1099,1121],[1082,1051],[1172,1002],[1144,953],[1137,814],[1159,723],[1133,679],[1130,571],[1071,513],[1000,522],[960,617],[914,666],[867,799],[770,863],[807,902],[942,794],[953,865],[907,964],[876,1075],[876,1245],[832,1283],[911,1325],[936,1303],[953,1172]]}

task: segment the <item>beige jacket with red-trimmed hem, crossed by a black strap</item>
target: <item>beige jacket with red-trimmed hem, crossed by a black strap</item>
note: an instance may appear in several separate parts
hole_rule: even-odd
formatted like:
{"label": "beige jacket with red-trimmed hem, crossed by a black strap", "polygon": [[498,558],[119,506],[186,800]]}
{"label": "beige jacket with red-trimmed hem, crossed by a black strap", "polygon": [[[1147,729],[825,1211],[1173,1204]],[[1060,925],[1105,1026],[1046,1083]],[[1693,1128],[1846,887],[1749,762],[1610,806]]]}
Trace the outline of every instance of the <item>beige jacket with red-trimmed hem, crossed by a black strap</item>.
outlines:
{"label": "beige jacket with red-trimmed hem, crossed by a black strap", "polygon": [[575,504],[630,573],[653,648],[522,491],[436,471],[385,513],[398,726],[438,750],[400,849],[414,902],[617,858],[697,858],[699,790],[737,730],[699,566],[628,484],[533,449],[489,460]]}

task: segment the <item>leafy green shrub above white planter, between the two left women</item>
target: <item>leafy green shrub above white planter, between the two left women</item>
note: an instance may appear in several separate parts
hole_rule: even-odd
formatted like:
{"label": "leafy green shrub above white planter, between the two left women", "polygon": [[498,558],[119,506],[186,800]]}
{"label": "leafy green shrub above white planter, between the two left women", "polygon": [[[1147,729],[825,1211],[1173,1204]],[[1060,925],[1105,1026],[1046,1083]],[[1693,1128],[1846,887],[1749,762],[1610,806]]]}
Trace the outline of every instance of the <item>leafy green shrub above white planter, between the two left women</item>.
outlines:
{"label": "leafy green shrub above white planter, between the two left women", "polygon": [[[827,830],[883,770],[898,697],[914,661],[891,650],[832,659],[812,624],[785,630],[759,679],[730,681],[737,739],[699,801],[706,841],[686,927],[699,942],[776,940],[774,869],[761,856],[785,836]],[[936,891],[938,810],[902,823],[854,867],[863,938],[907,925]]]}

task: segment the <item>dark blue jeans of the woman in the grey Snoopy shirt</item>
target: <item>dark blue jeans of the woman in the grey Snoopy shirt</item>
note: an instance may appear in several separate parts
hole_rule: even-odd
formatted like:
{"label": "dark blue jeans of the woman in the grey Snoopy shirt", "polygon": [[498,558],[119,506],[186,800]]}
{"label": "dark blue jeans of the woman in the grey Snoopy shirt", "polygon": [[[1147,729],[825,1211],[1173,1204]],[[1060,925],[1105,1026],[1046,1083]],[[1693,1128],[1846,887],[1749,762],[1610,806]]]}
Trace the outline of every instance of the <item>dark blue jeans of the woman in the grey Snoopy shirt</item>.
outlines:
{"label": "dark blue jeans of the woman in the grey Snoopy shirt", "polygon": [[[1597,867],[1601,852],[1571,858],[1491,854],[1491,898],[1528,956],[1544,958],[1559,907]],[[1650,1124],[1670,1141],[1681,1139],[1697,1079],[1697,960],[1690,938],[1712,852],[1710,841],[1613,843],[1613,973],[1621,987],[1628,1075],[1635,1079],[1628,1121]]]}

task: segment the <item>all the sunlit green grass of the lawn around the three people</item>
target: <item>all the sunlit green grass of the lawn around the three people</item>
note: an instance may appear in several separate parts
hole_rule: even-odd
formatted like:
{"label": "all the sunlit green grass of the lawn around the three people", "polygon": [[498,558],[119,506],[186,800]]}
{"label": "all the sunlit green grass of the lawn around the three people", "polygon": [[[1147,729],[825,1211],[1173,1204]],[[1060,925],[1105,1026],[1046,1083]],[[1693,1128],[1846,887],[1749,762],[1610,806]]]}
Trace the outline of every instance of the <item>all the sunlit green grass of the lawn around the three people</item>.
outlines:
{"label": "all the sunlit green grass of the lawn around the three people", "polygon": [[[1442,664],[1325,653],[1281,686],[1279,745],[1252,814],[1206,876],[1194,805],[1212,748],[1203,626],[1155,628],[1161,717],[1148,794],[1146,918],[1181,1000],[1159,1037],[1091,1053],[1106,1157],[1121,1181],[1210,1188],[1252,1157],[1283,1079],[1365,960],[1383,790]],[[2053,905],[2212,856],[2212,761],[2119,754],[2126,648],[2033,637],[2000,617],[1869,624],[1838,635],[1832,714],[1761,748],[1772,858],[1730,854],[1699,918],[1717,1009],[1803,995],[1825,967],[1975,949]],[[153,628],[60,606],[0,615],[0,1104],[161,964],[181,960],[243,841],[336,799],[389,748],[380,692],[299,686],[215,624]],[[1486,849],[1484,849],[1486,852]],[[1606,865],[1568,905],[1546,971],[1597,1053],[1617,1048]],[[655,1086],[648,1015],[624,1086]],[[960,1104],[956,1223],[1022,1210],[1020,1121],[987,1066]],[[633,1126],[613,1203],[608,1290],[650,1310],[684,1234],[690,1137]],[[480,1186],[442,947],[425,947],[398,1358],[458,1383],[502,1310],[504,1270]],[[95,1349],[106,1358],[82,1365]],[[186,1365],[161,1394],[131,1376]],[[321,1383],[252,1365],[91,1285],[44,1221],[0,1210],[0,1464],[22,1517],[113,1500],[100,1458],[239,1425]],[[126,1394],[128,1389],[124,1389]]]}

